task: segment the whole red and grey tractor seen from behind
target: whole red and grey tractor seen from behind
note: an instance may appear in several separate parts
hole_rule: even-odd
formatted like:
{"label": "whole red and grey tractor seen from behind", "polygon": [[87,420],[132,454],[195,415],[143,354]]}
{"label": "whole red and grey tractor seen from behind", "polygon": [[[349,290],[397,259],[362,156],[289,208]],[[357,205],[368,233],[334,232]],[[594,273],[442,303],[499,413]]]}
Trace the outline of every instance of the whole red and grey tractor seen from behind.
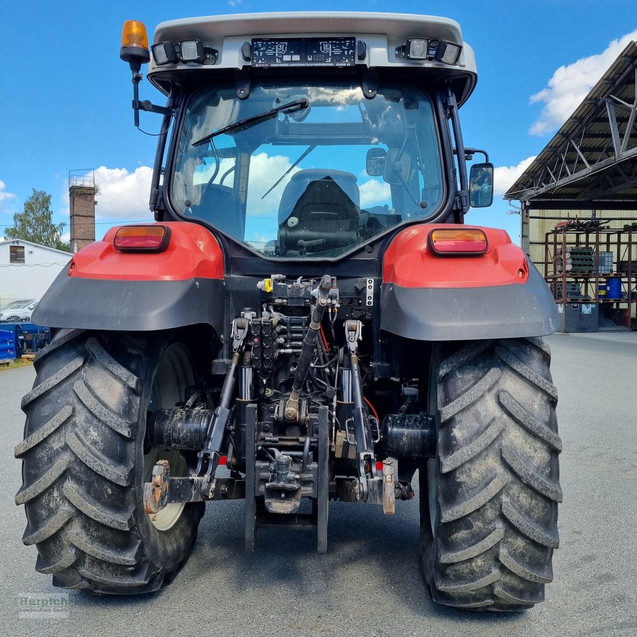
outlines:
{"label": "whole red and grey tractor seen from behind", "polygon": [[[464,223],[493,166],[462,141],[476,68],[459,25],[215,16],[161,24],[149,48],[129,21],[120,55],[135,124],[162,116],[155,223],[76,253],[34,314],[54,328],[16,448],[36,569],[157,590],[229,499],[247,551],[261,526],[300,525],[329,554],[333,501],[392,515],[418,480],[435,601],[542,601],[555,303],[505,231]],[[140,101],[147,62],[166,106]]]}

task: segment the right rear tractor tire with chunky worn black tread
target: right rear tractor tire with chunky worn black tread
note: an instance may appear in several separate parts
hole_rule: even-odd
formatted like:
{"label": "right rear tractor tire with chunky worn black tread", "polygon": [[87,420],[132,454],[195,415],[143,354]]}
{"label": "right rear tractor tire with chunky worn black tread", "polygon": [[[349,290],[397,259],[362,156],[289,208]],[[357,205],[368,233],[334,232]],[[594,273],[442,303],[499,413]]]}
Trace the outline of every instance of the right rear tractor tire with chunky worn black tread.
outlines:
{"label": "right rear tractor tire with chunky worn black tread", "polygon": [[438,603],[517,611],[544,599],[562,501],[549,365],[540,338],[434,348],[438,452],[419,472],[420,566]]}

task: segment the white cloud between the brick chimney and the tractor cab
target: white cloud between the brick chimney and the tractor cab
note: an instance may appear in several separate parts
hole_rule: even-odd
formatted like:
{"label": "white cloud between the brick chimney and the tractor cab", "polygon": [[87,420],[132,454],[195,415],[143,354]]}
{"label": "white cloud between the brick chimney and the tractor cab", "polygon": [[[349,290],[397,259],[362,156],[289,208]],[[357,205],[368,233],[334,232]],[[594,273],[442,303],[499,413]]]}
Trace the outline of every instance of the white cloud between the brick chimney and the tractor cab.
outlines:
{"label": "white cloud between the brick chimney and the tractor cab", "polygon": [[100,193],[96,197],[97,218],[148,219],[150,196],[150,166],[140,166],[129,172],[125,168],[100,166],[95,171],[95,182]]}

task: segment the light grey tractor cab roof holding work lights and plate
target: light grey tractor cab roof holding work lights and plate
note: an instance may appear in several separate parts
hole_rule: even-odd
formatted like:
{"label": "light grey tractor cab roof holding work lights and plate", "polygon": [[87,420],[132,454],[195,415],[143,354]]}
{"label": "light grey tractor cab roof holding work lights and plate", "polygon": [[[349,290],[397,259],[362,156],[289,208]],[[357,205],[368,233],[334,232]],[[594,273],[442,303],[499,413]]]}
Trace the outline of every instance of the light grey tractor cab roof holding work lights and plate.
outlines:
{"label": "light grey tractor cab roof holding work lights and plate", "polygon": [[[341,39],[341,43],[354,42],[352,54],[336,62],[310,62],[309,55],[301,59],[279,58],[271,63],[272,57],[264,62],[255,59],[255,47],[267,47],[269,43],[290,45],[290,39],[299,38],[310,42],[311,47],[322,47],[326,38]],[[425,54],[420,57],[410,55],[410,40],[417,39],[424,45]],[[227,71],[250,67],[275,68],[313,66],[360,67],[375,69],[396,69],[413,76],[449,78],[459,101],[464,103],[473,91],[477,78],[473,49],[462,39],[460,25],[454,20],[429,15],[409,15],[405,13],[357,13],[299,11],[285,13],[244,13],[240,15],[213,15],[200,18],[184,18],[162,22],[155,30],[154,45],[168,43],[179,53],[180,43],[196,41],[190,49],[199,55],[194,61],[183,61],[178,54],[174,62],[158,64],[151,56],[148,79],[159,90],[168,93],[173,82],[183,78],[183,73],[194,71]],[[298,42],[299,40],[297,40]],[[438,61],[436,50],[441,43],[459,45],[461,50],[454,63]],[[292,46],[292,45],[290,45]],[[328,41],[329,46],[329,41]],[[276,57],[276,54],[275,54]],[[291,57],[291,56],[289,56]],[[438,56],[441,57],[441,56]],[[314,55],[313,60],[317,57]],[[192,80],[192,75],[189,75]],[[208,76],[206,76],[207,78]],[[198,78],[197,78],[198,80]],[[204,76],[202,76],[204,81]]]}

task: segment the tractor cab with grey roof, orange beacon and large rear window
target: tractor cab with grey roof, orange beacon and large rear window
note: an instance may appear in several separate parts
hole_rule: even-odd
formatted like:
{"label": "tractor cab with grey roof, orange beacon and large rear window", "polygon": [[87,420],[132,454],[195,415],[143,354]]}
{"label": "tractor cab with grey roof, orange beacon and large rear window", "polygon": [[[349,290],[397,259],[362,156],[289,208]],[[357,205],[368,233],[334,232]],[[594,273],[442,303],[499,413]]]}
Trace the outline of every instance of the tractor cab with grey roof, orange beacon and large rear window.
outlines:
{"label": "tractor cab with grey roof, orange beacon and large rear window", "polygon": [[[130,62],[139,37],[126,32]],[[164,113],[158,220],[199,222],[266,259],[340,259],[397,227],[468,210],[457,108],[476,69],[453,20],[192,18],[159,25],[150,53],[148,79],[168,106],[133,106],[136,118]],[[492,172],[483,175],[475,205],[491,201]]]}

